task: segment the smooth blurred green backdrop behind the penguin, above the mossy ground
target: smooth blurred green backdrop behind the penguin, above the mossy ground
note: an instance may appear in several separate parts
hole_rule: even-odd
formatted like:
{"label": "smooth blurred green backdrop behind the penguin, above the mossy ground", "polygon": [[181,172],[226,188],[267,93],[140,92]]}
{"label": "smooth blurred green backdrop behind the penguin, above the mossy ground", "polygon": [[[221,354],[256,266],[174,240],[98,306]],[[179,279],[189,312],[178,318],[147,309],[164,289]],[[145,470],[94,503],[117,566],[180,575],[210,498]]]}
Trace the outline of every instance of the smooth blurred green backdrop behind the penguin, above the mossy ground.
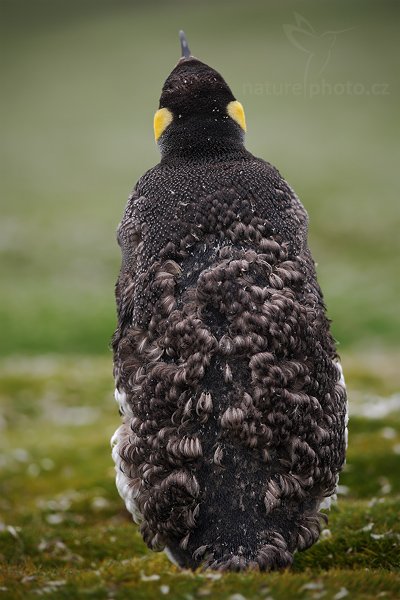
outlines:
{"label": "smooth blurred green backdrop behind the penguin, above the mossy ground", "polygon": [[108,351],[115,229],[159,160],[152,117],[180,28],[243,102],[249,150],[307,208],[341,349],[396,344],[398,3],[0,6],[1,354]]}

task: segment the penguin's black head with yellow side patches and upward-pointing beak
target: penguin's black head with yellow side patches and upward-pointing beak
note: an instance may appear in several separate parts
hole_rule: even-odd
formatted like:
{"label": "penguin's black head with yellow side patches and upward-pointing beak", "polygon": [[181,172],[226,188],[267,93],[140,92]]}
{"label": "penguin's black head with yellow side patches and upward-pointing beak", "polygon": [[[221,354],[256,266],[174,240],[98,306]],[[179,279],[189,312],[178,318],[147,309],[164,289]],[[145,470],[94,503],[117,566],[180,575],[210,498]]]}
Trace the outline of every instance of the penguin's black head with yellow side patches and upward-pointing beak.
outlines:
{"label": "penguin's black head with yellow side patches and upward-pointing beak", "polygon": [[162,88],[154,115],[161,153],[207,154],[243,146],[246,121],[223,77],[194,58],[183,31],[182,57]]}

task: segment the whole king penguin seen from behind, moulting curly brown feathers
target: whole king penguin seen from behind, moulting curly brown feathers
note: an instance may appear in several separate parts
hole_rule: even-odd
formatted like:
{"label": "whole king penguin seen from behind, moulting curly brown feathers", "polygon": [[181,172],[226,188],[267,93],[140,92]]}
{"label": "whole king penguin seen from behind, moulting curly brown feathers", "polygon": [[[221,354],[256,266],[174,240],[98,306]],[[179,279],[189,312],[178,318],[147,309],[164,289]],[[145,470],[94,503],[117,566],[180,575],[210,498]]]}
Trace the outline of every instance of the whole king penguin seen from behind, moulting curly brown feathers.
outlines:
{"label": "whole king penguin seen from behind, moulting curly brown feathers", "polygon": [[117,233],[116,483],[175,564],[282,569],[317,541],[335,494],[345,385],[307,213],[246,150],[241,103],[180,38],[154,117],[161,161]]}

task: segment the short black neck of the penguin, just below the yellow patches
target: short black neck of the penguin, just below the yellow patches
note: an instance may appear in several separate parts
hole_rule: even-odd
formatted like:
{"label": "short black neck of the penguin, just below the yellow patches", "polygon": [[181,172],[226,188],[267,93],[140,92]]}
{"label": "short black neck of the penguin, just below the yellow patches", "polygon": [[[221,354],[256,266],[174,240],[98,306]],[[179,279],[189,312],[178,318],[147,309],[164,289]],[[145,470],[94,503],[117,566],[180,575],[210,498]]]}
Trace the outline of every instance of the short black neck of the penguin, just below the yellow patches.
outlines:
{"label": "short black neck of the penguin, just below the yellow patches", "polygon": [[227,127],[179,127],[160,141],[161,160],[224,160],[232,155],[246,155],[243,134]]}

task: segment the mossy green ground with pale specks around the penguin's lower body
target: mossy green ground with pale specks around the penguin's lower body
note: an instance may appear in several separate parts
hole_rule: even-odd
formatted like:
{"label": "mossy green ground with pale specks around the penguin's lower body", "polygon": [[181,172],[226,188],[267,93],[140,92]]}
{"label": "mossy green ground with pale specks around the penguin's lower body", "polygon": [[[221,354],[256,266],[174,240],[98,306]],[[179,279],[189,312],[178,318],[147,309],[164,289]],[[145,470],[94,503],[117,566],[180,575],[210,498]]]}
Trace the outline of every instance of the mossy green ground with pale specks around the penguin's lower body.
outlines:
{"label": "mossy green ground with pale specks around the penguin's lower body", "polygon": [[[399,598],[400,416],[385,411],[398,358],[344,358],[354,404],[339,502],[291,571],[245,575],[180,571],[143,544],[114,486],[110,357],[4,359],[0,597]],[[359,416],[371,398],[383,417]]]}

